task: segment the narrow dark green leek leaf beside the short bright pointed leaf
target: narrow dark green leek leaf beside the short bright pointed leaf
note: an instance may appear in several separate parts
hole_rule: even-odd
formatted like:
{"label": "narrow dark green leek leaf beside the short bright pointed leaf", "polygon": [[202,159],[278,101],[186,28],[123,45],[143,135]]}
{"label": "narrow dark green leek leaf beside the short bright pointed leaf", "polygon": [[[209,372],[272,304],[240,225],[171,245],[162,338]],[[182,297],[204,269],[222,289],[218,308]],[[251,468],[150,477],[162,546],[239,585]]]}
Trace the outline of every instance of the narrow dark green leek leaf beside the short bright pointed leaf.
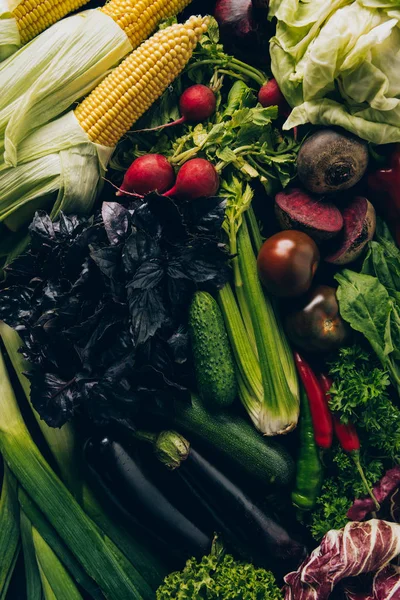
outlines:
{"label": "narrow dark green leek leaf beside the short bright pointed leaf", "polygon": [[[103,594],[99,591],[98,586],[93,579],[86,574],[74,555],[50,525],[46,517],[21,487],[18,490],[18,501],[21,506],[22,514],[25,515],[25,519],[31,524],[31,537],[33,526],[43,540],[50,546],[55,555],[62,561],[74,580],[90,594],[91,598],[94,600],[101,600]],[[28,598],[30,598],[29,595]]]}

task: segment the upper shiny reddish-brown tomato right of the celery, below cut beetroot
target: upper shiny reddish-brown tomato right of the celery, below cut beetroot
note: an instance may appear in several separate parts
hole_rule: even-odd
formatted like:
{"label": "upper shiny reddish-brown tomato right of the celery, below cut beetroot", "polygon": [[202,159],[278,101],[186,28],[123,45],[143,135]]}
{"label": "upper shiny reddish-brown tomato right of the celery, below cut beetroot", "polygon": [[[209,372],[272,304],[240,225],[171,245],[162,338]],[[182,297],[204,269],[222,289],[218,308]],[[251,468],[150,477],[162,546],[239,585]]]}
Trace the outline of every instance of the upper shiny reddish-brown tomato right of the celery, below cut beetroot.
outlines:
{"label": "upper shiny reddish-brown tomato right of the celery, below cut beetroot", "polygon": [[280,231],[264,242],[257,259],[264,287],[280,298],[300,296],[310,288],[319,263],[314,240],[302,231]]}

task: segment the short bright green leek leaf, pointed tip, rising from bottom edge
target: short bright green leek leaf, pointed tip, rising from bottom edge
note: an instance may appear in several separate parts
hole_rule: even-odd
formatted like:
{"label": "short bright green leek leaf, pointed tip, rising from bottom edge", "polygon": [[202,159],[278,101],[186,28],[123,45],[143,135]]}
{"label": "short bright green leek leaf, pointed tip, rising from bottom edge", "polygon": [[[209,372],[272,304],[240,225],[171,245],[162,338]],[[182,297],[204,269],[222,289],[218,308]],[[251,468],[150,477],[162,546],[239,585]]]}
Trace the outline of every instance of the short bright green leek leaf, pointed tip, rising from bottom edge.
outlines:
{"label": "short bright green leek leaf, pointed tip, rising from bottom edge", "polygon": [[46,576],[55,597],[83,600],[68,571],[34,527],[32,527],[32,538],[39,569]]}

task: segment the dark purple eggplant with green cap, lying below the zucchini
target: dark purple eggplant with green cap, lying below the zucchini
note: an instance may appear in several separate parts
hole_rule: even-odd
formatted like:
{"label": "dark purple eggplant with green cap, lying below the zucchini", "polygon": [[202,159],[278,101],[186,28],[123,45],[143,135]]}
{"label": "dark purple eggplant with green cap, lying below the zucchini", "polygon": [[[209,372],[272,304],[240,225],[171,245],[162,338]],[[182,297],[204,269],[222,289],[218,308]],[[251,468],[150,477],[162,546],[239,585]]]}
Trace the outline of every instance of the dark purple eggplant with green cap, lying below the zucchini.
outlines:
{"label": "dark purple eggplant with green cap, lying below the zucchini", "polygon": [[[176,448],[174,448],[176,440]],[[307,551],[303,544],[176,432],[162,432],[154,449],[164,464],[174,466],[188,489],[207,507],[223,539],[244,559],[284,574],[297,568]],[[179,466],[177,466],[179,465]]]}

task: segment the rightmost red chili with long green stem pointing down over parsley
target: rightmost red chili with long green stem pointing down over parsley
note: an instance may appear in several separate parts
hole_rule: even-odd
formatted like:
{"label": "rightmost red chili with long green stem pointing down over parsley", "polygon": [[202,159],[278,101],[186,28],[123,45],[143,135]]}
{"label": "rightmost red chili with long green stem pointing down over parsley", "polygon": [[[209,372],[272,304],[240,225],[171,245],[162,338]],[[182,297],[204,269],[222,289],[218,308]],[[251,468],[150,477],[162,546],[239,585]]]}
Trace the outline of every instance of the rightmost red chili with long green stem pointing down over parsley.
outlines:
{"label": "rightmost red chili with long green stem pointing down over parsley", "polygon": [[[329,390],[332,387],[333,384],[333,380],[328,376],[325,375],[324,373],[321,373],[318,377],[319,383],[321,385],[321,388],[325,394],[325,397],[327,399],[327,403],[329,402]],[[364,484],[364,487],[367,491],[367,493],[369,494],[369,496],[371,496],[376,510],[380,509],[379,503],[376,500],[374,493],[371,489],[371,486],[369,485],[367,478],[365,477],[365,473],[364,470],[362,468],[361,465],[361,461],[360,461],[360,448],[361,448],[361,444],[360,444],[360,438],[358,437],[358,433],[357,430],[355,428],[355,426],[352,423],[342,423],[340,421],[340,417],[338,415],[333,415],[333,427],[335,430],[335,435],[338,439],[338,442],[341,446],[341,448],[343,448],[343,450],[345,452],[347,452],[350,457],[353,459],[353,462],[357,468],[357,471],[360,474],[360,477],[362,479],[362,482]]]}

